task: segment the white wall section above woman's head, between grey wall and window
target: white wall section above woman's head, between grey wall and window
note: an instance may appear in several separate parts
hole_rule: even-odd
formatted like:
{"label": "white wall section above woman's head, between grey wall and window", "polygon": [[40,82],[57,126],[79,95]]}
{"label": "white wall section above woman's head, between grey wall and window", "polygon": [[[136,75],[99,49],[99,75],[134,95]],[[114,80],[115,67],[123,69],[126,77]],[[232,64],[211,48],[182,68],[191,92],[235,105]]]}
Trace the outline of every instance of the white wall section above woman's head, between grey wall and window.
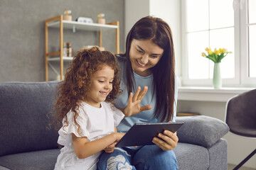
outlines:
{"label": "white wall section above woman's head, between grey wall and window", "polygon": [[[178,0],[126,0],[125,37],[134,23],[144,16],[156,16],[169,23],[174,38],[176,75],[181,76],[181,6]],[[125,41],[125,40],[124,40]],[[125,44],[125,42],[124,42]]]}

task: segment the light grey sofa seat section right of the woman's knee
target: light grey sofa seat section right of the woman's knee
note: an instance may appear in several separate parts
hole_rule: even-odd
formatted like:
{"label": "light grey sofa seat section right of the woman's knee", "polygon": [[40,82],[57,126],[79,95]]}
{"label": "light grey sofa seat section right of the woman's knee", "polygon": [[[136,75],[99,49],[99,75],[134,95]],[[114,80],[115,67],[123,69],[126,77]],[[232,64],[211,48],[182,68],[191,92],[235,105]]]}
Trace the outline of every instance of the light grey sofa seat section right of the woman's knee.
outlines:
{"label": "light grey sofa seat section right of the woman's knee", "polygon": [[174,153],[177,158],[178,169],[182,170],[205,170],[209,167],[208,149],[198,145],[178,142]]}

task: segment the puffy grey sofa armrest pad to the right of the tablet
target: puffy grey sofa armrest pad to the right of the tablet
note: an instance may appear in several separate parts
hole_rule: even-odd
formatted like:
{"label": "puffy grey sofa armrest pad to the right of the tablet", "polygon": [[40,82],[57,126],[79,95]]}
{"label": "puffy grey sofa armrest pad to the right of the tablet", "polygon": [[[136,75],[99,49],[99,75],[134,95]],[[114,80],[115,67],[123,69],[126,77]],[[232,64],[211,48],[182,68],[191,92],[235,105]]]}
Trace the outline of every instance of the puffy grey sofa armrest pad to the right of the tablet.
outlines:
{"label": "puffy grey sofa armrest pad to the right of the tablet", "polygon": [[178,142],[210,147],[228,133],[226,123],[206,115],[176,117],[184,125],[177,131]]}

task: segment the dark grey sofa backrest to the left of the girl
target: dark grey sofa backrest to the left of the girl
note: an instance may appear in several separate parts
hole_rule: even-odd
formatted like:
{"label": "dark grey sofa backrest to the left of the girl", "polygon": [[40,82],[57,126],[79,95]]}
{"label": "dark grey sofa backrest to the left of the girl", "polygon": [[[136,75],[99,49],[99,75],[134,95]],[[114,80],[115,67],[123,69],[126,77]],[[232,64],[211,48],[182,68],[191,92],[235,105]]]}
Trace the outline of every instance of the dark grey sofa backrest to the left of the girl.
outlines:
{"label": "dark grey sofa backrest to the left of the girl", "polygon": [[48,114],[53,114],[59,82],[0,84],[0,156],[58,148]]}

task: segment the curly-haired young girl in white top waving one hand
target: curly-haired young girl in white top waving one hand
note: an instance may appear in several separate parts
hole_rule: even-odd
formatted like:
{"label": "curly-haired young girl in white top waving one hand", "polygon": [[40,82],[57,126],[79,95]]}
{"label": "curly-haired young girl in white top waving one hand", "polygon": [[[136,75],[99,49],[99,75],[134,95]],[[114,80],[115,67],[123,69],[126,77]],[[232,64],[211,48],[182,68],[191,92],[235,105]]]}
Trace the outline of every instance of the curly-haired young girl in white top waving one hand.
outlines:
{"label": "curly-haired young girl in white top waving one hand", "polygon": [[96,169],[102,149],[119,141],[124,115],[139,113],[146,90],[130,94],[124,114],[111,104],[119,94],[118,66],[111,52],[80,50],[65,74],[55,103],[60,149],[55,169]]}

